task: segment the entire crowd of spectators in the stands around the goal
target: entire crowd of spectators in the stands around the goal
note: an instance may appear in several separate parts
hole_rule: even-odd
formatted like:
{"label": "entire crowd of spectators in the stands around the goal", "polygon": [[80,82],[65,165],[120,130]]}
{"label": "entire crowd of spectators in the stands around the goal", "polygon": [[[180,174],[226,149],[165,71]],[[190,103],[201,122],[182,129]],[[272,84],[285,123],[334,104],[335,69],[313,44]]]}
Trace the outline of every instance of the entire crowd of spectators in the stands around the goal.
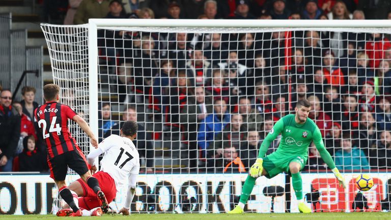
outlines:
{"label": "entire crowd of spectators in the stands around the goal", "polygon": [[[89,18],[391,19],[391,3],[372,0],[82,0],[69,1],[69,6],[66,24],[87,23]],[[115,119],[113,103],[101,103],[99,139],[119,134],[121,124],[133,119],[139,124],[136,142],[147,172],[155,169],[158,142],[172,151],[173,159],[180,152],[178,158],[185,161],[181,171],[246,172],[273,124],[293,113],[298,100],[308,99],[309,117],[340,170],[390,168],[389,39],[381,33],[331,30],[100,30],[100,64],[116,77],[110,89],[115,87],[126,108]],[[34,164],[25,158],[45,155],[42,135],[32,123],[38,106],[34,94],[34,88],[25,87],[23,100],[11,105],[11,92],[2,91],[3,171],[17,169],[12,166],[17,158],[22,171]],[[281,141],[278,136],[267,154]],[[45,169],[36,166],[35,171]],[[325,169],[314,146],[306,169]]]}

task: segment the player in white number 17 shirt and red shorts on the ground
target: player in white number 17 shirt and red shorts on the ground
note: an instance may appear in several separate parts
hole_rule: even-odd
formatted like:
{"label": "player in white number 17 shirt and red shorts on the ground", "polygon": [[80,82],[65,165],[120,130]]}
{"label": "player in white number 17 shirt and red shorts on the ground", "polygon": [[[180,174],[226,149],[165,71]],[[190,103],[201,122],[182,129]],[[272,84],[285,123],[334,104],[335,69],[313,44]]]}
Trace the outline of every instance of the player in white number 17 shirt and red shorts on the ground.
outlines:
{"label": "player in white number 17 shirt and red shorts on the ground", "polygon": [[[98,179],[102,186],[102,191],[106,195],[108,203],[111,203],[117,194],[117,188],[128,184],[125,205],[119,213],[129,215],[130,203],[133,200],[136,178],[140,170],[139,156],[133,140],[137,134],[137,123],[126,121],[121,129],[121,136],[111,134],[103,140],[99,147],[90,152],[87,156],[91,165],[93,176]],[[95,173],[95,158],[104,153],[100,161],[100,171]],[[78,179],[69,185],[74,197],[78,197],[78,205],[82,208],[82,215],[101,215],[99,201],[93,196],[93,192],[86,184]],[[98,208],[97,208],[98,207]],[[66,208],[57,212],[57,216],[69,216],[72,209]]]}

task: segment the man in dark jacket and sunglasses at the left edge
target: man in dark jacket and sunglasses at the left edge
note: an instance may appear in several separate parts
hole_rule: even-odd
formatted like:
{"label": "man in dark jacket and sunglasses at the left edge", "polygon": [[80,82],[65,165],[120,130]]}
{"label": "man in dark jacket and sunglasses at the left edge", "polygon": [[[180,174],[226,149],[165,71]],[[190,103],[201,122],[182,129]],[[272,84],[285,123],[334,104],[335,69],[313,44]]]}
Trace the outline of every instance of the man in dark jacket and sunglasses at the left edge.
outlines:
{"label": "man in dark jacket and sunglasses at the left edge", "polygon": [[20,136],[20,116],[12,107],[12,93],[3,90],[0,93],[0,169],[12,171],[14,151]]}

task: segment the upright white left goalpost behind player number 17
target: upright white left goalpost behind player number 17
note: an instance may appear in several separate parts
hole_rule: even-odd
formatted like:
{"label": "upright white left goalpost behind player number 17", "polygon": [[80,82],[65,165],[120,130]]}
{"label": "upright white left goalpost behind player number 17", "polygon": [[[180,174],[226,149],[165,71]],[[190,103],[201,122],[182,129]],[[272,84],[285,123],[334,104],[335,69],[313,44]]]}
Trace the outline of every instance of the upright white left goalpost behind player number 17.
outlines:
{"label": "upright white left goalpost behind player number 17", "polygon": [[[91,19],[89,21],[88,38],[88,70],[89,70],[89,118],[90,128],[98,139],[98,33],[97,25]],[[90,143],[90,152],[94,147]],[[98,167],[98,164],[96,164]]]}

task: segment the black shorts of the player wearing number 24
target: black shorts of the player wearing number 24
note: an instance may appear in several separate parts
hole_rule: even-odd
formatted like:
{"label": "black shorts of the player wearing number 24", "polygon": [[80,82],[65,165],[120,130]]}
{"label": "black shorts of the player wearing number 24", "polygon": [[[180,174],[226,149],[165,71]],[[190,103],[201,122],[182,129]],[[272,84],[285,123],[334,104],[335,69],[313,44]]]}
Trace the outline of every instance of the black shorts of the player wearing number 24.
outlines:
{"label": "black shorts of the player wearing number 24", "polygon": [[86,157],[78,148],[77,150],[54,156],[47,163],[50,168],[50,177],[58,181],[65,180],[68,167],[80,176],[89,171]]}

